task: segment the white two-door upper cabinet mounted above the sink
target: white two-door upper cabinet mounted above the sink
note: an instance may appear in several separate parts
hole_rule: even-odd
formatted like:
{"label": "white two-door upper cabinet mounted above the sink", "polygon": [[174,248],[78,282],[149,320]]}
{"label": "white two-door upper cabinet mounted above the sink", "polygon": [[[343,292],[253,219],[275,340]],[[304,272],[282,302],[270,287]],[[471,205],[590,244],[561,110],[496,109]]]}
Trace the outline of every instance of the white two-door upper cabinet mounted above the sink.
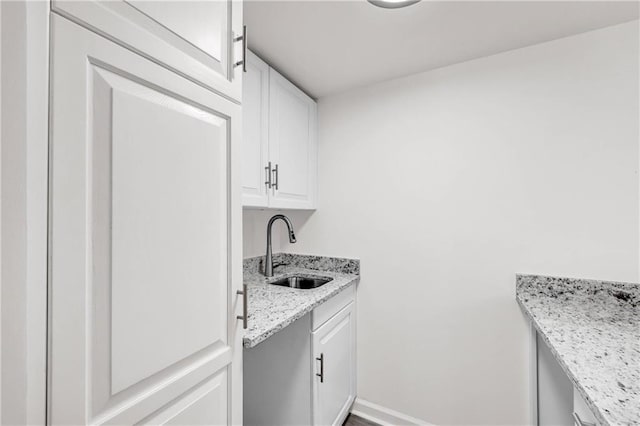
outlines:
{"label": "white two-door upper cabinet mounted above the sink", "polygon": [[317,105],[255,55],[243,94],[245,207],[315,209]]}

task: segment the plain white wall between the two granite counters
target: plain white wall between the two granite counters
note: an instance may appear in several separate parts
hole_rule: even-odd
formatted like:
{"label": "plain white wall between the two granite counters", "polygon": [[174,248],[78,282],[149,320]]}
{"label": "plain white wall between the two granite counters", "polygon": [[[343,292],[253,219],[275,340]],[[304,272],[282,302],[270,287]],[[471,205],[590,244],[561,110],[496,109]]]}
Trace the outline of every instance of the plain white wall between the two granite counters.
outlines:
{"label": "plain white wall between the two granite counters", "polygon": [[638,72],[635,21],[320,100],[319,207],[281,241],[362,259],[360,398],[529,421],[515,273],[638,280]]}

